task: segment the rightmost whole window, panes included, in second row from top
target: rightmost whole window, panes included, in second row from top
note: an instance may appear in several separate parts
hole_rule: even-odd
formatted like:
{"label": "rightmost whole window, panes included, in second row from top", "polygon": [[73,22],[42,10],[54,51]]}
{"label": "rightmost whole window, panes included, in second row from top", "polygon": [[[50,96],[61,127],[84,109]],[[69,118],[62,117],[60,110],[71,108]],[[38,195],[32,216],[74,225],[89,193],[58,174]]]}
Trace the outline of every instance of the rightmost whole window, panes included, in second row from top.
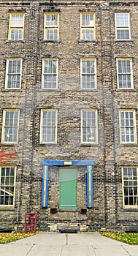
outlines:
{"label": "rightmost whole window, panes included, in second row from top", "polygon": [[131,59],[117,59],[118,89],[133,89]]}

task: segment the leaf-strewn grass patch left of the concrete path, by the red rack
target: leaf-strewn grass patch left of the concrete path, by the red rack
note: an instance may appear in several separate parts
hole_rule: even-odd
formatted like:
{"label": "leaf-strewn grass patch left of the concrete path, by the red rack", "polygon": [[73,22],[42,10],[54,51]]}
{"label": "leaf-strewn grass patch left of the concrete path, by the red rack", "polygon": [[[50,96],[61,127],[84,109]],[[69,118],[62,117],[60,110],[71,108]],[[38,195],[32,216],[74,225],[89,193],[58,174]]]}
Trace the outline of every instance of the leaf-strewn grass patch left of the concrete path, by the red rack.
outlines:
{"label": "leaf-strewn grass patch left of the concrete path, by the red rack", "polygon": [[7,244],[12,241],[16,241],[28,236],[34,236],[36,233],[10,233],[10,234],[1,234],[0,233],[0,244]]}

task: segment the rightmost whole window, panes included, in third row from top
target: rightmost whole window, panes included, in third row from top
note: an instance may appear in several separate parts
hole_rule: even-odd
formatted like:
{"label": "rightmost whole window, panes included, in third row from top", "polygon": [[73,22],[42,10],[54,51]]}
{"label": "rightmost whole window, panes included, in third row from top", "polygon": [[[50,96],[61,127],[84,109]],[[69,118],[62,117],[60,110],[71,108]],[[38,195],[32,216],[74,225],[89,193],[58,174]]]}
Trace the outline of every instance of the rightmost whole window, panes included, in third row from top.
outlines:
{"label": "rightmost whole window, panes included, in third row from top", "polygon": [[120,143],[137,143],[135,110],[120,110]]}

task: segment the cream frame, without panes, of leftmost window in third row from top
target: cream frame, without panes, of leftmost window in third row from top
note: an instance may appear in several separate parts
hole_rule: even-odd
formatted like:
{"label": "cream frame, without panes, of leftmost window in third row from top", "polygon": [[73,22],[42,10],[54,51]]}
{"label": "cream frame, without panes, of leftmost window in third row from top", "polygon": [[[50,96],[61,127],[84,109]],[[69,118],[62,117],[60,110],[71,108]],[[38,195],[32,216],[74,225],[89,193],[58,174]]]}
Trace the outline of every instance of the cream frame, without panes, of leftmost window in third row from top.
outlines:
{"label": "cream frame, without panes, of leftmost window in third row from top", "polygon": [[[8,124],[7,125],[7,124],[5,124],[5,118],[6,118],[6,113],[7,112],[17,112],[18,113],[18,124],[16,124],[16,125],[12,125],[12,124]],[[6,109],[6,110],[4,110],[4,112],[3,112],[3,124],[2,124],[2,138],[1,138],[1,142],[2,143],[4,143],[4,144],[15,144],[15,143],[18,143],[19,115],[20,115],[20,110],[18,110],[18,109]],[[12,138],[13,138],[13,135],[14,135],[13,129],[14,128],[17,129],[17,140],[15,140],[15,141],[13,141],[13,140],[4,140],[6,129],[8,129],[8,133],[9,133],[9,130],[12,129]],[[10,135],[8,133],[7,133],[7,138],[10,137]]]}

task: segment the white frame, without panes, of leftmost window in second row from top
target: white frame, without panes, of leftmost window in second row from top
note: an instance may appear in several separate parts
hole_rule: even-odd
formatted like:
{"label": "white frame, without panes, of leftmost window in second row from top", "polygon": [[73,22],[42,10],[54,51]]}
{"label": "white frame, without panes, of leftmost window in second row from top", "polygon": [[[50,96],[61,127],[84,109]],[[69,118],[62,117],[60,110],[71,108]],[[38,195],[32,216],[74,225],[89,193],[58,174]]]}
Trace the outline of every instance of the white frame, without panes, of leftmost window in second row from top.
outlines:
{"label": "white frame, without panes, of leftmost window in second row from top", "polygon": [[[9,61],[20,61],[20,72],[11,72],[9,73]],[[7,68],[6,68],[6,79],[5,79],[5,89],[8,90],[18,90],[21,88],[21,78],[22,78],[22,64],[23,64],[23,59],[7,59]],[[17,66],[16,66],[17,69]],[[8,80],[9,80],[9,75],[17,76],[20,75],[20,86],[19,87],[8,87]]]}

